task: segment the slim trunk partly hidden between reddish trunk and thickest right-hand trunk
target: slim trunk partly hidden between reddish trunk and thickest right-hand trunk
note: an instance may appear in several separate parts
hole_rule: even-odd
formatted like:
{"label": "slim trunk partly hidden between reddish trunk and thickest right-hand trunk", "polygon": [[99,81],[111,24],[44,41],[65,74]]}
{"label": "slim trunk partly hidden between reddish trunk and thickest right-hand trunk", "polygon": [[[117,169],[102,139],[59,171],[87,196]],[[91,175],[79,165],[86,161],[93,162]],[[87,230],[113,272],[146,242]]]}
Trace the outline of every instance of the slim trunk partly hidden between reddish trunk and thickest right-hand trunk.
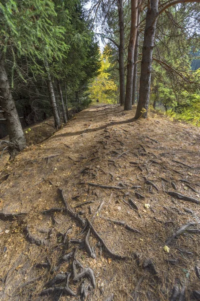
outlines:
{"label": "slim trunk partly hidden between reddish trunk and thickest right-hand trunk", "polygon": [[138,48],[139,48],[139,25],[140,22],[140,9],[137,12],[137,36],[134,47],[134,71],[133,71],[133,83],[132,83],[132,104],[135,104],[136,91],[137,91],[137,59],[138,59]]}

